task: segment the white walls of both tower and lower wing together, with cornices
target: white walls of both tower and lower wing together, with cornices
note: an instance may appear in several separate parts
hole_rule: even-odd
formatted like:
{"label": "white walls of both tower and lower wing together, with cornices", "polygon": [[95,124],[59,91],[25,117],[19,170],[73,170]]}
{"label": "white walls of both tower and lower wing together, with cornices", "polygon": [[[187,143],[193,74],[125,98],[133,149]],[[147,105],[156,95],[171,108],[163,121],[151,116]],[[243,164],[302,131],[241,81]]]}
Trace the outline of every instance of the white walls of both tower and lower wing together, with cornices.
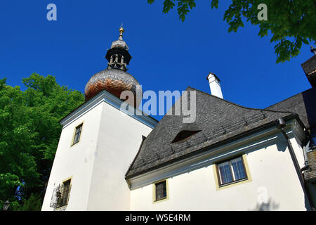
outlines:
{"label": "white walls of both tower and lower wing together, with cornices", "polygon": [[[51,207],[53,190],[71,178],[68,204],[57,210],[309,210],[287,141],[276,127],[209,149],[180,162],[125,180],[142,136],[156,121],[130,116],[117,98],[103,91],[65,117],[42,210]],[[81,139],[72,146],[75,128]],[[300,126],[287,123],[296,159],[304,165],[298,143]],[[218,186],[216,163],[240,155],[247,179]],[[154,200],[154,183],[167,181],[167,198]]]}

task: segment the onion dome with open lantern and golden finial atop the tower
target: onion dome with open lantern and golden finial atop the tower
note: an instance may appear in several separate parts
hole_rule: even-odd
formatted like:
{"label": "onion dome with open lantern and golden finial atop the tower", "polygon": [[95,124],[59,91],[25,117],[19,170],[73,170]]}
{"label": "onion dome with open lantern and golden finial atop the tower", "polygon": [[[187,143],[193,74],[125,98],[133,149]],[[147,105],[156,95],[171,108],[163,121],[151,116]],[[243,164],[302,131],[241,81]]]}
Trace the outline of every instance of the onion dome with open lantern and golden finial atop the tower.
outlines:
{"label": "onion dome with open lantern and golden finial atop the tower", "polygon": [[[107,63],[107,69],[96,73],[96,75],[90,78],[84,90],[85,98],[88,101],[103,90],[109,91],[114,96],[117,96],[117,98],[120,98],[123,91],[132,91],[134,99],[127,101],[127,103],[138,108],[143,91],[138,81],[126,72],[131,55],[129,54],[129,46],[123,41],[123,27],[119,28],[119,33],[119,39],[113,41],[111,49],[107,50],[105,56],[109,62]],[[137,95],[139,95],[138,98],[136,98]],[[126,97],[122,100],[126,101],[128,98]]]}

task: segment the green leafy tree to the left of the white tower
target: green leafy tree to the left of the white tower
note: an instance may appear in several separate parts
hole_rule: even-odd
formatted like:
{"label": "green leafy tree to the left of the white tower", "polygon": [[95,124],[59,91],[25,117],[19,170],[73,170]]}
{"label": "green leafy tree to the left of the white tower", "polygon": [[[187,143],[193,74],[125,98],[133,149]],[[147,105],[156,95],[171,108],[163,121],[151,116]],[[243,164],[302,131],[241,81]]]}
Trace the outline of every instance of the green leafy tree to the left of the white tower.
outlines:
{"label": "green leafy tree to the left of the white tower", "polygon": [[9,200],[11,210],[38,210],[58,145],[58,121],[84,96],[51,75],[34,73],[22,82],[25,91],[0,79],[0,207]]}

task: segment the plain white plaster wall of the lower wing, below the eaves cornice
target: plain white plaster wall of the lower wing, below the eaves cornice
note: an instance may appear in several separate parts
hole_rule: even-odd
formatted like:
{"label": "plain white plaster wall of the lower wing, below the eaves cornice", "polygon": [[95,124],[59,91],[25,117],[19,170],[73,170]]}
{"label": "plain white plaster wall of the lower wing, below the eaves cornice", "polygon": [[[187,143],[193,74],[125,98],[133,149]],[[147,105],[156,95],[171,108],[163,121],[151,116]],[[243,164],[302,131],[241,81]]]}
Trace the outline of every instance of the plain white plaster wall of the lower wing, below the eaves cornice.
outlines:
{"label": "plain white plaster wall of the lower wing, below the eaves cornice", "polygon": [[[291,139],[294,148],[295,139]],[[296,149],[297,155],[300,149]],[[246,154],[252,181],[216,191],[212,165],[173,176],[169,200],[152,202],[152,184],[131,191],[131,210],[306,210],[303,189],[284,139]],[[301,160],[299,160],[301,164]]]}

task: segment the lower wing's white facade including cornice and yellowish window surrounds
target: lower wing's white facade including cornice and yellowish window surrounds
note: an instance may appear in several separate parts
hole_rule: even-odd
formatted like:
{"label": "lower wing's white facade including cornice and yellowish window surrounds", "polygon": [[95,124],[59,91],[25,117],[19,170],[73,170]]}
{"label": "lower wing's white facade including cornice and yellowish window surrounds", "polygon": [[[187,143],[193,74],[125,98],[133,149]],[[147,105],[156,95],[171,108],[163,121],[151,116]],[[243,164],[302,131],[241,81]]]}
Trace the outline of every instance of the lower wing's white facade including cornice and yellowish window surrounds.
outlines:
{"label": "lower wing's white facade including cornice and yellowish window surrounds", "polygon": [[[303,166],[302,148],[291,136],[296,158]],[[243,156],[248,179],[218,188],[215,164],[233,155]],[[164,178],[168,182],[168,198],[155,203],[153,183]],[[131,187],[131,210],[310,209],[287,142],[277,129],[139,176],[133,179]]]}

